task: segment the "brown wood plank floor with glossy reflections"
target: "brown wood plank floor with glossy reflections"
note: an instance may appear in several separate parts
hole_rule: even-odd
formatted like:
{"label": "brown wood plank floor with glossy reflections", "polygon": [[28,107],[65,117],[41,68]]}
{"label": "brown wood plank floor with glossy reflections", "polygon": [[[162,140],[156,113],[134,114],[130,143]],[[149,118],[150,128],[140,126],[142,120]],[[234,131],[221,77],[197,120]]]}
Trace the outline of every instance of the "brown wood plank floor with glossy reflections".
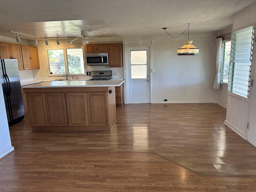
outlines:
{"label": "brown wood plank floor with glossy reflections", "polygon": [[225,117],[218,104],[128,104],[104,132],[32,132],[25,117],[0,191],[256,191],[256,150]]}

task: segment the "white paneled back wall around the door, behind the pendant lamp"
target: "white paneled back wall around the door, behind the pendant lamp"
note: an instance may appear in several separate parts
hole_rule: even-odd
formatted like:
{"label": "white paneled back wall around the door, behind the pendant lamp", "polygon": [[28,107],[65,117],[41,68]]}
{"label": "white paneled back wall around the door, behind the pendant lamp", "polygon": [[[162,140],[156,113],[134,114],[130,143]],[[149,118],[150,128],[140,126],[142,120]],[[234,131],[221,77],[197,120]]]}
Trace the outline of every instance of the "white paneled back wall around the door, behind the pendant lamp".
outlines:
{"label": "white paneled back wall around the door, behind the pendant lamp", "polygon": [[[164,99],[168,100],[165,103],[214,102],[212,86],[216,74],[216,36],[213,33],[190,34],[192,44],[199,48],[198,56],[177,55],[177,49],[187,40],[186,35],[182,38],[124,38],[126,48],[145,45],[151,47],[150,68],[154,69],[150,73],[151,103],[164,103]],[[124,93],[126,95],[126,88]]]}

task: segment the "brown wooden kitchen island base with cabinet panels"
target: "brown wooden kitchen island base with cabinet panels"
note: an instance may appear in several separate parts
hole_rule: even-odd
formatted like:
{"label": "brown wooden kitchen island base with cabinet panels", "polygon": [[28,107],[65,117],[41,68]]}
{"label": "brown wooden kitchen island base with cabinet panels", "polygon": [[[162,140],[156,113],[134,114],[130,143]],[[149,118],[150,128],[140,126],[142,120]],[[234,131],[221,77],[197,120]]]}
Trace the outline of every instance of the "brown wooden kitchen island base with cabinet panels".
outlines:
{"label": "brown wooden kitchen island base with cabinet panels", "polygon": [[104,92],[41,89],[32,93],[32,88],[24,88],[32,130],[111,130],[116,121],[114,87]]}

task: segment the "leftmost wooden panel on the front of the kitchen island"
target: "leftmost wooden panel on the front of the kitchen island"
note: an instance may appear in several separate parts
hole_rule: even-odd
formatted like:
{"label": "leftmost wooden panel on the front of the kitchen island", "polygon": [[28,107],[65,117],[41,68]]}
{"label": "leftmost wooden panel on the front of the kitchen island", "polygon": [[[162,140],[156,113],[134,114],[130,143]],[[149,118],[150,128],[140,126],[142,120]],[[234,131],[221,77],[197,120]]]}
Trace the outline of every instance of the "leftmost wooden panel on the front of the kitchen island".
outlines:
{"label": "leftmost wooden panel on the front of the kitchen island", "polygon": [[48,126],[44,93],[26,93],[30,126]]}

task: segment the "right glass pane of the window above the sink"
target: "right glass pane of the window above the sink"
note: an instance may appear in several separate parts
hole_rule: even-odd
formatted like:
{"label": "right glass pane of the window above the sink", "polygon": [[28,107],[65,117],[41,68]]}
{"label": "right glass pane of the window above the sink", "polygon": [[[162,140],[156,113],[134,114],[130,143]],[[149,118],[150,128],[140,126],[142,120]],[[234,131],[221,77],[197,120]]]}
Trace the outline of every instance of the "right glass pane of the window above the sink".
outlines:
{"label": "right glass pane of the window above the sink", "polygon": [[84,74],[83,49],[67,49],[68,74]]}

